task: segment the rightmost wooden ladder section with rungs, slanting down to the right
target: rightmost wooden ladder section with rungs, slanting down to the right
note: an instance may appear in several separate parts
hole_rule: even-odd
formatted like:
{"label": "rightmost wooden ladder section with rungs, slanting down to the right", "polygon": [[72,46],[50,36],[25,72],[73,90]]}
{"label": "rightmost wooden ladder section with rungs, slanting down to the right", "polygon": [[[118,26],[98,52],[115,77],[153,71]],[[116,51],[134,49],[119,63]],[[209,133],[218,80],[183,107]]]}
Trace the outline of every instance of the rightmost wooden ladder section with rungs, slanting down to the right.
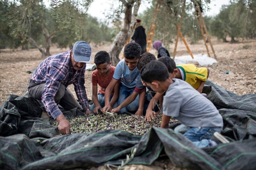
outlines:
{"label": "rightmost wooden ladder section with rungs, slanting down to the right", "polygon": [[[217,59],[215,51],[214,51],[213,46],[212,46],[212,41],[210,39],[210,36],[208,34],[207,28],[206,28],[205,23],[204,23],[204,18],[202,17],[201,10],[198,7],[198,5],[196,5],[195,8],[196,8],[197,20],[198,20],[198,23],[199,23],[199,26],[200,26],[201,33],[203,35],[204,44],[205,44],[205,47],[206,47],[206,50],[207,50],[207,54],[208,54],[209,57],[211,57],[211,54],[213,54],[214,58]],[[212,51],[210,51],[210,48],[208,48],[209,46],[211,47]]]}

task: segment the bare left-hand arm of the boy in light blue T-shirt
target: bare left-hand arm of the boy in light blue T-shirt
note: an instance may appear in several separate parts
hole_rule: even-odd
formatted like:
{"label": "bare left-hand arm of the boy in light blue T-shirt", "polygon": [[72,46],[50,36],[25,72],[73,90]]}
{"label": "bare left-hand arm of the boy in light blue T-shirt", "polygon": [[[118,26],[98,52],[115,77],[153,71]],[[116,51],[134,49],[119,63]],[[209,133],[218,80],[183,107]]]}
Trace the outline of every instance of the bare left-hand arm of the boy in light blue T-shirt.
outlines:
{"label": "bare left-hand arm of the boy in light blue T-shirt", "polygon": [[112,78],[108,87],[105,90],[105,107],[102,108],[103,113],[105,113],[106,111],[109,112],[112,109],[112,106],[110,105],[109,100],[110,100],[111,92],[113,91],[117,81],[118,80],[116,80],[115,78]]}

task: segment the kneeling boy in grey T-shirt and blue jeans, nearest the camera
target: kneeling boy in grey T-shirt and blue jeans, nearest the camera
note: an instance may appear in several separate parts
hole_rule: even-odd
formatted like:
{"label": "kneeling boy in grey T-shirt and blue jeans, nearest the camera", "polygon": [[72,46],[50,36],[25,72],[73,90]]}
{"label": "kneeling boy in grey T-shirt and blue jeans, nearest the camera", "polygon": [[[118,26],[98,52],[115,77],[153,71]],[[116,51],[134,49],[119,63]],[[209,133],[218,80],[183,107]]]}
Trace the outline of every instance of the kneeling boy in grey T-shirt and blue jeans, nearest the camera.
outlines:
{"label": "kneeling boy in grey T-shirt and blue jeans, nearest the camera", "polygon": [[151,61],[140,71],[146,85],[164,93],[161,128],[168,128],[171,117],[189,127],[183,135],[202,148],[216,145],[211,137],[221,132],[222,117],[213,103],[198,93],[187,82],[170,78],[167,67],[160,61]]}

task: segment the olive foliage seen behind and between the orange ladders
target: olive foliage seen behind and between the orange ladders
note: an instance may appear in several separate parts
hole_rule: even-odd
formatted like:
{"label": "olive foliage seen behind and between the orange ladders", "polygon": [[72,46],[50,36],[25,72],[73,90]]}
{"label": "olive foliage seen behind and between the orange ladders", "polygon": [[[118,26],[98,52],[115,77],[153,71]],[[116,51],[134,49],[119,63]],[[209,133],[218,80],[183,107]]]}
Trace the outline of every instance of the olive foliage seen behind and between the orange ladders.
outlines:
{"label": "olive foliage seen behind and between the orange ladders", "polygon": [[[151,20],[156,10],[156,0],[153,0],[152,6],[148,8],[143,15],[139,16],[142,18],[144,23],[144,27],[146,30],[149,30],[151,25]],[[161,1],[160,11],[157,17],[156,30],[154,33],[153,41],[159,40],[164,43],[166,47],[169,46],[170,43],[173,43],[177,37],[177,28],[176,25],[179,26],[182,8],[183,8],[183,0],[163,0]],[[194,2],[195,1],[186,1],[185,8],[183,10],[183,18],[181,23],[181,33],[184,37],[189,37],[191,43],[196,42],[202,39],[202,34],[200,31],[200,27],[196,18],[195,10],[194,10]],[[209,0],[201,1],[201,5],[203,10],[209,10],[208,4]],[[208,22],[211,22],[212,18],[207,18]],[[205,22],[205,23],[206,23]],[[146,32],[147,33],[147,32]]]}

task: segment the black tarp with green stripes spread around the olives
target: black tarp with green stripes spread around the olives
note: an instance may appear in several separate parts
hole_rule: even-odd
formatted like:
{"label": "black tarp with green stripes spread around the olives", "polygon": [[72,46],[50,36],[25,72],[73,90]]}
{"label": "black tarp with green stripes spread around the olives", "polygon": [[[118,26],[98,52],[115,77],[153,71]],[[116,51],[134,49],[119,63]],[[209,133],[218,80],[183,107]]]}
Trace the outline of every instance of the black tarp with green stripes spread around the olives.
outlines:
{"label": "black tarp with green stripes spread around the olives", "polygon": [[[57,136],[52,122],[39,118],[41,102],[27,94],[10,95],[0,106],[1,169],[70,169],[121,165],[136,148],[129,164],[150,165],[166,154],[175,166],[190,169],[256,169],[256,95],[228,92],[210,81],[203,92],[223,117],[222,135],[231,142],[200,149],[182,134],[151,128],[143,136],[121,130]],[[83,115],[82,110],[64,111]]]}

